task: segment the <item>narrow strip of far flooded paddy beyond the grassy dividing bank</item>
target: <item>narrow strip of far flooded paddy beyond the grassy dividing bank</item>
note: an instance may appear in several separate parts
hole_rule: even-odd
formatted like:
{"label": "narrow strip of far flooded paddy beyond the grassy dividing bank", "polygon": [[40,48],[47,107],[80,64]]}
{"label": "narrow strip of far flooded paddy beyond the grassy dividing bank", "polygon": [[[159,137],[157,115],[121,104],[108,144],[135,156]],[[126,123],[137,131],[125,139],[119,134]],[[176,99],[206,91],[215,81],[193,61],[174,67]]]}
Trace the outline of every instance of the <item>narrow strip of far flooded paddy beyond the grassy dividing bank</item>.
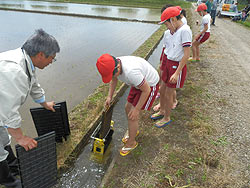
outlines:
{"label": "narrow strip of far flooded paddy beyond the grassy dividing bank", "polygon": [[119,6],[87,5],[75,3],[56,3],[42,1],[0,0],[0,7],[41,10],[46,12],[75,13],[92,16],[107,16],[127,19],[158,21],[159,9],[131,8]]}

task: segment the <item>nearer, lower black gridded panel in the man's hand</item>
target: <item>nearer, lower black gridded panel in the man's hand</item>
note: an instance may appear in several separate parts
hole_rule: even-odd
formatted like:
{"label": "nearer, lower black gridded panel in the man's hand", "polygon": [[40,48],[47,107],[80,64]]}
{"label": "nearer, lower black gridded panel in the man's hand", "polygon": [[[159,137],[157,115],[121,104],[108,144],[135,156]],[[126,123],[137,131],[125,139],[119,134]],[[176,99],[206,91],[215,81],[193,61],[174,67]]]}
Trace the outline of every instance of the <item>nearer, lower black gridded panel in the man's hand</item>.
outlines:
{"label": "nearer, lower black gridded panel in the man's hand", "polygon": [[50,188],[57,183],[55,132],[38,138],[37,147],[25,151],[16,145],[16,154],[23,188]]}

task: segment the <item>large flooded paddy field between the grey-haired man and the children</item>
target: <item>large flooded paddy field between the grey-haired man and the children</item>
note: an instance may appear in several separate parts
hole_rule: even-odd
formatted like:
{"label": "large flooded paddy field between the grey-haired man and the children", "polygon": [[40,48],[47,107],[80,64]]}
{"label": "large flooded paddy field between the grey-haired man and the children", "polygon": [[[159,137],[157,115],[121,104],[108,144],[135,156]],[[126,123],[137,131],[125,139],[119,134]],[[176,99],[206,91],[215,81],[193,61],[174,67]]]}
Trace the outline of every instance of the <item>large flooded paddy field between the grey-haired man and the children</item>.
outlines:
{"label": "large flooded paddy field between the grey-haired man and the children", "polygon": [[[47,101],[66,100],[69,110],[100,85],[95,62],[102,53],[115,56],[133,53],[159,26],[45,14],[0,11],[0,52],[20,47],[37,28],[52,34],[61,46],[57,61],[38,70]],[[35,137],[29,114],[39,106],[29,98],[20,109],[25,134]]]}

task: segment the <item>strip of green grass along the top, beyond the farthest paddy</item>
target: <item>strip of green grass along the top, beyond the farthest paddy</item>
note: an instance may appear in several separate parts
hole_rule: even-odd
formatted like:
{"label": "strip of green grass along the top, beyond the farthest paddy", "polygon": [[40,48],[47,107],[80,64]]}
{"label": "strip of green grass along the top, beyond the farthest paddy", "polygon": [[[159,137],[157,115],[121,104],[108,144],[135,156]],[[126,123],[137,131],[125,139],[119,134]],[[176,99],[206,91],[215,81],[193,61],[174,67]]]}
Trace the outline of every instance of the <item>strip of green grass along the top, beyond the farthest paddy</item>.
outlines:
{"label": "strip of green grass along the top, beyond the farthest paddy", "polygon": [[128,7],[161,8],[165,4],[190,7],[190,3],[182,0],[56,0],[57,2],[85,3],[98,5],[115,5]]}

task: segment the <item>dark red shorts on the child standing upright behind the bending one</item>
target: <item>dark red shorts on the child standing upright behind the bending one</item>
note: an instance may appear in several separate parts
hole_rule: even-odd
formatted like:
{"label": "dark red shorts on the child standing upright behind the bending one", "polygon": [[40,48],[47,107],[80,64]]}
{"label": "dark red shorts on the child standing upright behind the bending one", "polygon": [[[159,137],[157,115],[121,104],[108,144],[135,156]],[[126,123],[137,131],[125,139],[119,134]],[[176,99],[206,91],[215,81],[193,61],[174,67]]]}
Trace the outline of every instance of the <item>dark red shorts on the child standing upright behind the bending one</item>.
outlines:
{"label": "dark red shorts on the child standing upright behind the bending one", "polygon": [[177,83],[172,84],[169,82],[171,76],[175,73],[179,66],[178,61],[172,61],[167,59],[166,61],[166,68],[162,72],[162,77],[161,79],[166,83],[167,87],[170,88],[182,88],[186,79],[186,74],[187,74],[187,66],[185,65],[180,72],[180,75],[178,77]]}

